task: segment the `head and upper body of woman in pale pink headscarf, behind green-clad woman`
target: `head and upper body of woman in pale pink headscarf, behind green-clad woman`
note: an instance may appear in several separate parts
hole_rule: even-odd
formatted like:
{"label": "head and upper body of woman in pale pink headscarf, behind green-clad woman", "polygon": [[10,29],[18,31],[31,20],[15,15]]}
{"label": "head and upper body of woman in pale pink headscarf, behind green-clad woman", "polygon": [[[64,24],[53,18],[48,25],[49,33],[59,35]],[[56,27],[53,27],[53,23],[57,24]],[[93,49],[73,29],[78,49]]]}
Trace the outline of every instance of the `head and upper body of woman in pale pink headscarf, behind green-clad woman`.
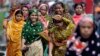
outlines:
{"label": "head and upper body of woman in pale pink headscarf, behind green-clad woman", "polygon": [[41,4],[39,6],[39,11],[40,11],[39,20],[44,25],[44,29],[48,28],[48,24],[49,24],[49,21],[50,21],[50,16],[48,15],[48,10],[49,10],[49,8],[48,8],[47,4]]}

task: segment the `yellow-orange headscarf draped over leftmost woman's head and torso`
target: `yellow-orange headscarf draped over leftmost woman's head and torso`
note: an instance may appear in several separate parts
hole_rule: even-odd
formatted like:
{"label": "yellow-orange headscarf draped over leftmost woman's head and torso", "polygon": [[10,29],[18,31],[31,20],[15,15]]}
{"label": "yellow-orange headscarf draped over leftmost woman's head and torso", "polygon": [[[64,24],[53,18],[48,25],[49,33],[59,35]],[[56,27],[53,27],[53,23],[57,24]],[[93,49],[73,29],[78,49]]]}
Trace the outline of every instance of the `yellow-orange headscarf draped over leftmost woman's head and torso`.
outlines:
{"label": "yellow-orange headscarf draped over leftmost woman's head and torso", "polygon": [[[19,9],[18,9],[19,10]],[[11,17],[11,21],[8,22],[7,26],[7,37],[10,39],[10,41],[17,42],[21,38],[21,32],[24,25],[24,17],[22,17],[22,20],[17,22],[15,19],[15,13],[18,11],[16,10]]]}

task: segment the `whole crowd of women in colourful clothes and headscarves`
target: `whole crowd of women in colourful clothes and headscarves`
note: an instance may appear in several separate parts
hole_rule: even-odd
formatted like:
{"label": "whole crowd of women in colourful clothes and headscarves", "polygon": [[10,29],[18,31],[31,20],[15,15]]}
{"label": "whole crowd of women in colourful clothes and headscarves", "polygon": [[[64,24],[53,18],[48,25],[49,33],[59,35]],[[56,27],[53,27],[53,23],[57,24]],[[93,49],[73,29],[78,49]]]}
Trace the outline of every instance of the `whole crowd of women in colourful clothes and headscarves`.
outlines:
{"label": "whole crowd of women in colourful clothes and headscarves", "polygon": [[100,17],[87,14],[83,2],[73,5],[73,15],[66,6],[13,4],[3,22],[6,56],[100,56]]}

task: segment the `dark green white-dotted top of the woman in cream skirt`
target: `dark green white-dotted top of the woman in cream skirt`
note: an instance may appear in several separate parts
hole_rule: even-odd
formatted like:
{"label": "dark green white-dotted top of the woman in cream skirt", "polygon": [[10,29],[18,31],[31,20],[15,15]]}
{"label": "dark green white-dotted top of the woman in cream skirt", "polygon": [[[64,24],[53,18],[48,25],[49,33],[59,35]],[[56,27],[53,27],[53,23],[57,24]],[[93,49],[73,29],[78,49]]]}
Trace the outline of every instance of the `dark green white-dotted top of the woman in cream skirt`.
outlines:
{"label": "dark green white-dotted top of the woman in cream skirt", "polygon": [[27,20],[22,30],[22,36],[26,40],[25,44],[31,44],[39,40],[40,36],[38,33],[42,31],[43,26],[41,22],[36,22],[36,24],[33,25],[30,20]]}

